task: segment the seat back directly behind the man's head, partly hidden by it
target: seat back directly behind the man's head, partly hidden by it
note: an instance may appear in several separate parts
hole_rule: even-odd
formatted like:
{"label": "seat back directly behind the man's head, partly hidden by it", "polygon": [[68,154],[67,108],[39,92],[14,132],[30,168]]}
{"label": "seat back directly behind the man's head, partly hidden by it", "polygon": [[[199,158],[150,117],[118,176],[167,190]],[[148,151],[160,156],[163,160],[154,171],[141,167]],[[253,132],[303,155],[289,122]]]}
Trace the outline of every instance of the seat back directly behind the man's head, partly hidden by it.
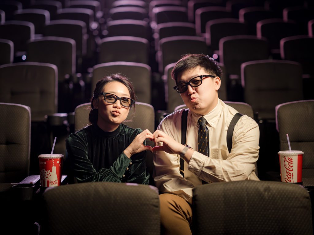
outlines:
{"label": "seat back directly behind the man's head, partly hidden by it", "polygon": [[[176,63],[169,64],[165,67],[165,102],[167,103],[167,111],[169,113],[176,111],[177,107],[184,105],[183,100],[178,92],[176,92],[173,87],[176,86],[176,82],[171,78],[171,71]],[[227,100],[227,76],[225,73],[225,66],[223,64],[218,64],[223,71],[221,80],[221,85],[218,90],[218,97],[221,100]],[[183,107],[181,107],[183,108]]]}

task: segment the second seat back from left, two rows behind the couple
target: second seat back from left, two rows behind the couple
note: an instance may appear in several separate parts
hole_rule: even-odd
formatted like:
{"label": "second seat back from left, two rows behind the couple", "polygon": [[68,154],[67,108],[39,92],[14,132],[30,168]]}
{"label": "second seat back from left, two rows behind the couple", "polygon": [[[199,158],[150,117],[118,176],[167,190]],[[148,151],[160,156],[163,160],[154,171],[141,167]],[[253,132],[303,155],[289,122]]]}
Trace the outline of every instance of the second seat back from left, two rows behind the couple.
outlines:
{"label": "second seat back from left, two rows behind the couple", "polygon": [[42,37],[27,44],[27,61],[56,65],[59,81],[64,81],[65,76],[75,74],[75,58],[76,44],[70,38]]}

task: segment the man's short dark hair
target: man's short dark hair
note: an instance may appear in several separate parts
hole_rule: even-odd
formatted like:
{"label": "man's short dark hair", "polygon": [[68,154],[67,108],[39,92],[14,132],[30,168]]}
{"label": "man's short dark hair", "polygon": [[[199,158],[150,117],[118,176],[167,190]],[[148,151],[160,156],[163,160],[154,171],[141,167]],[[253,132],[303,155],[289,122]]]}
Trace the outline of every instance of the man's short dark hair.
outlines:
{"label": "man's short dark hair", "polygon": [[203,68],[207,73],[212,73],[209,75],[214,75],[221,78],[222,71],[218,66],[217,61],[212,57],[203,54],[183,55],[173,67],[173,70],[171,71],[171,77],[176,81],[176,84],[178,84],[178,75],[180,73],[198,66]]}

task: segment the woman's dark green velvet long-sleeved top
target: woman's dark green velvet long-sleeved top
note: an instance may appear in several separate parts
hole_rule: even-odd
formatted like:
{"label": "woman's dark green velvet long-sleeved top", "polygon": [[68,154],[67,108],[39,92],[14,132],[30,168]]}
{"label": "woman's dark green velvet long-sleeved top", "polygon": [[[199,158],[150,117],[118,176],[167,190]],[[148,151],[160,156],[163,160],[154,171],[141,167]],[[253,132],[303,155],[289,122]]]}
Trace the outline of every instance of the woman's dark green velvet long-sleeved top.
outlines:
{"label": "woman's dark green velvet long-sleeved top", "polygon": [[123,153],[141,131],[120,124],[115,131],[105,132],[93,124],[70,134],[66,139],[70,172],[78,182],[148,184],[146,151],[134,154],[131,159]]}

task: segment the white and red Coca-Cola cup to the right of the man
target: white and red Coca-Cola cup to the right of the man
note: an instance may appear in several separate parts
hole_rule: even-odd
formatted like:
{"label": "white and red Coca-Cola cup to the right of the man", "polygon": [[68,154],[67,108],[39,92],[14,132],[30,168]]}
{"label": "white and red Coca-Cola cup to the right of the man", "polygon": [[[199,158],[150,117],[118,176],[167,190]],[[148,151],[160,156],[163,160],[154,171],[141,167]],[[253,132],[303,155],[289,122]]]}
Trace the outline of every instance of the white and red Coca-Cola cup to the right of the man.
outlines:
{"label": "white and red Coca-Cola cup to the right of the man", "polygon": [[287,183],[302,182],[302,151],[279,151],[281,181]]}

